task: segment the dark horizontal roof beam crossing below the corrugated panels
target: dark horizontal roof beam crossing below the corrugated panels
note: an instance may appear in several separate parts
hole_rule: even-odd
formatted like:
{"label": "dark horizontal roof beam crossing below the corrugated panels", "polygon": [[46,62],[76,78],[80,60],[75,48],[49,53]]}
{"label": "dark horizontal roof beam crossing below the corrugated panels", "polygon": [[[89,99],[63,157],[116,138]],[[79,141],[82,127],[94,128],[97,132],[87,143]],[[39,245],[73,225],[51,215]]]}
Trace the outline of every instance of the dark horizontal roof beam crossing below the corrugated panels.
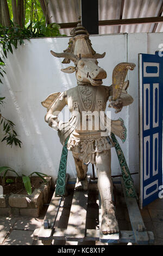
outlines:
{"label": "dark horizontal roof beam crossing below the corrugated panels", "polygon": [[[103,20],[98,21],[98,26],[119,26],[119,25],[133,25],[141,23],[156,23],[163,22],[163,16],[161,17],[146,17],[135,19],[122,19],[122,20]],[[59,23],[60,28],[74,28],[78,22]]]}

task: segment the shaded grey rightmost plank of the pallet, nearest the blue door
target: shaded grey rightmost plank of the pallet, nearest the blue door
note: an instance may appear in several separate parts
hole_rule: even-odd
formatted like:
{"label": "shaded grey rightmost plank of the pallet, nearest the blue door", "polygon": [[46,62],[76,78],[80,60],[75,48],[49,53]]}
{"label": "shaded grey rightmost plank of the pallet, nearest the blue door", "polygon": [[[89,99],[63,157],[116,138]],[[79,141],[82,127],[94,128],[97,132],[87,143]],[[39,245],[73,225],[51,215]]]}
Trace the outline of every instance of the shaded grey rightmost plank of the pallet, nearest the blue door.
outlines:
{"label": "shaded grey rightmost plank of the pallet, nearest the blue door", "polygon": [[[136,198],[129,198],[126,196],[126,190],[124,187],[123,179],[121,178],[122,189],[124,193],[124,197],[126,199],[128,214],[131,222],[131,227],[133,229],[135,242],[137,244],[148,244],[149,237],[145,228],[145,224],[143,223],[142,216],[140,214],[139,207],[136,202]],[[140,231],[138,231],[140,229]]]}

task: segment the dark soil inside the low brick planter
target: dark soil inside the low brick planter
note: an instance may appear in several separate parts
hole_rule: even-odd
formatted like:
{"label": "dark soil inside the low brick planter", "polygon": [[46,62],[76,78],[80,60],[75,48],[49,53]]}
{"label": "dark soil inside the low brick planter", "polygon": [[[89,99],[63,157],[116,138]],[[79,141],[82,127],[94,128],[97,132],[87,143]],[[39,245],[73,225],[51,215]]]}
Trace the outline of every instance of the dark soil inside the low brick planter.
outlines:
{"label": "dark soil inside the low brick planter", "polygon": [[[3,194],[27,194],[22,178],[16,178],[13,176],[7,176],[6,179],[14,180],[14,183],[3,185]],[[32,192],[35,188],[39,188],[43,180],[39,176],[32,176],[30,178]],[[0,185],[2,185],[2,179],[0,178]]]}

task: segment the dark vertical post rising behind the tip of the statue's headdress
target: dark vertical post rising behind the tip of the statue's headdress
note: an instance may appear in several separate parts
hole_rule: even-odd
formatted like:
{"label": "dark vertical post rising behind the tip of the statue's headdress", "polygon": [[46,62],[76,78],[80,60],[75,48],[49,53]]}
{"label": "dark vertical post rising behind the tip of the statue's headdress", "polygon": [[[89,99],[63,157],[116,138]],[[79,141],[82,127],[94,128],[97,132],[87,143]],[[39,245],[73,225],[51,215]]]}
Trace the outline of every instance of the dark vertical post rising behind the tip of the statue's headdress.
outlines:
{"label": "dark vertical post rising behind the tip of the statue's headdress", "polygon": [[89,34],[98,34],[98,0],[81,0],[82,25]]}

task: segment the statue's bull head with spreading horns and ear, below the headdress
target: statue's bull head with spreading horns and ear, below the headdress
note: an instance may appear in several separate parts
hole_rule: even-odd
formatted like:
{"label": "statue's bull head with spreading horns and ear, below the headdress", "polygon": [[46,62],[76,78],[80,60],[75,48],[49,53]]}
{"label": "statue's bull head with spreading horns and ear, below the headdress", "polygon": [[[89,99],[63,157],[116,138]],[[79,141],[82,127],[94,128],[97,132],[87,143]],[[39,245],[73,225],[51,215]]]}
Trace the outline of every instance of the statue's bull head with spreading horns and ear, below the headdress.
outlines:
{"label": "statue's bull head with spreading horns and ear, below the headdress", "polygon": [[76,71],[76,78],[79,82],[91,83],[92,86],[100,86],[102,79],[106,78],[106,71],[98,66],[97,59],[103,58],[103,54],[95,53],[90,58],[78,57],[70,52],[56,53],[51,51],[52,55],[58,58],[71,59],[76,66],[69,66],[66,69],[61,69],[65,73],[73,73]]}

